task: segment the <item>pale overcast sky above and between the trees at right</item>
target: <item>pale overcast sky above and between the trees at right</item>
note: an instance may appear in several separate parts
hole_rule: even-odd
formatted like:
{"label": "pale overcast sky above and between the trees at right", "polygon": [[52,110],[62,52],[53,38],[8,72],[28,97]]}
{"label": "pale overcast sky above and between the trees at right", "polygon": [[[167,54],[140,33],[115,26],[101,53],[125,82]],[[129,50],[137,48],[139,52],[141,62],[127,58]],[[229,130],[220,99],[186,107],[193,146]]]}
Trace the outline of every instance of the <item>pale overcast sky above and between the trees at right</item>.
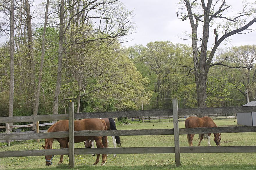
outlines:
{"label": "pale overcast sky above and between the trees at right", "polygon": [[[125,46],[142,44],[144,46],[154,41],[171,41],[173,43],[191,44],[190,41],[184,41],[178,37],[188,38],[184,32],[191,34],[189,20],[181,21],[177,18],[176,9],[180,7],[179,0],[119,0],[125,4],[128,10],[134,9],[134,18],[137,29],[136,33],[129,35],[130,42],[124,43]],[[255,0],[247,0],[254,2]],[[242,0],[226,0],[232,5],[232,11],[242,10]],[[230,12],[232,12],[230,11]],[[254,23],[251,29],[256,29]],[[210,30],[213,31],[213,30]],[[236,34],[230,36],[228,47],[256,44],[256,31],[249,34]],[[209,45],[213,44],[213,37],[210,36]],[[224,47],[224,44],[221,45]]]}

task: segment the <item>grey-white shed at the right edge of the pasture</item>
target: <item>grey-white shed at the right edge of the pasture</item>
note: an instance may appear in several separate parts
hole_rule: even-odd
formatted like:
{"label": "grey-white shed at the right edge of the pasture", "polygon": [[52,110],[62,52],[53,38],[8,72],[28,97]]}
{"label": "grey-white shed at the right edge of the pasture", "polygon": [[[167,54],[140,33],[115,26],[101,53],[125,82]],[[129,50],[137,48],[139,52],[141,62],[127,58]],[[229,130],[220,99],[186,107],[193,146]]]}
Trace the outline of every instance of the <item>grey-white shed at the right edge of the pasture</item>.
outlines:
{"label": "grey-white shed at the right edge of the pasture", "polygon": [[[256,106],[256,101],[251,101],[243,106]],[[237,125],[256,126],[256,112],[237,113]]]}

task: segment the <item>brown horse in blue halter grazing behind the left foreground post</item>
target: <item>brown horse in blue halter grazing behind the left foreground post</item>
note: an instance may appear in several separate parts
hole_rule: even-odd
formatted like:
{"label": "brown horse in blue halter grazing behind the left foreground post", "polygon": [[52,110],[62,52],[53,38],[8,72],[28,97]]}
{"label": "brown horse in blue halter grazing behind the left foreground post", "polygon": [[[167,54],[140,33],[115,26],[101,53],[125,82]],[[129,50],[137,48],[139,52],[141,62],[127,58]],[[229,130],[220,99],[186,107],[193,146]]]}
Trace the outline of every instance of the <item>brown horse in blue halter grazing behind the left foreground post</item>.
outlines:
{"label": "brown horse in blue halter grazing behind the left foreground post", "polygon": [[[75,120],[74,121],[74,130],[80,131],[80,130],[107,130],[107,125],[104,120],[100,119],[81,119],[81,120]],[[57,132],[57,131],[68,131],[68,120],[60,120],[54,125],[52,125],[47,132]],[[107,137],[106,136],[76,136],[74,138],[74,142],[83,142],[87,139],[94,139],[97,145],[97,148],[104,148],[107,147]],[[60,142],[61,148],[68,148],[68,138],[52,138],[52,139],[45,139],[45,146],[42,145],[44,149],[52,149],[52,143],[56,139],[58,142]],[[101,141],[102,140],[102,141]],[[96,161],[94,163],[97,164],[99,162],[99,156],[97,155]],[[45,156],[46,165],[51,165],[53,155],[52,156]],[[101,165],[104,165],[106,162],[106,154],[102,154],[102,163]],[[61,155],[60,162],[58,164],[61,164],[63,162],[63,155]]]}

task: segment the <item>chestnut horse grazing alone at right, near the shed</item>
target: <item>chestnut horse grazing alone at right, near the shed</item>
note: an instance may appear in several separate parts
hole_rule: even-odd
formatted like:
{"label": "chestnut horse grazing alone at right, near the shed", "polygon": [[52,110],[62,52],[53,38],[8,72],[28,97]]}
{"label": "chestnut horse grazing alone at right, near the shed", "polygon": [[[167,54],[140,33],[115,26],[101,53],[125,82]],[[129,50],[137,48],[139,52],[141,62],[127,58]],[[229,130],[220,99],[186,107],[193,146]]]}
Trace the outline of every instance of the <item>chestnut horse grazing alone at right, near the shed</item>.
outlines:
{"label": "chestnut horse grazing alone at right, near the shed", "polygon": [[[217,125],[214,123],[214,121],[209,118],[208,116],[198,118],[195,116],[191,116],[185,120],[185,127],[186,128],[195,128],[195,127],[217,127]],[[195,134],[188,134],[188,142],[189,146],[193,146],[192,140],[194,138]],[[198,143],[198,146],[200,146],[200,143],[203,139],[204,134],[201,134],[200,141]],[[208,146],[210,145],[210,136],[211,134],[208,134]],[[221,146],[221,134],[214,134],[214,142],[217,146]]]}

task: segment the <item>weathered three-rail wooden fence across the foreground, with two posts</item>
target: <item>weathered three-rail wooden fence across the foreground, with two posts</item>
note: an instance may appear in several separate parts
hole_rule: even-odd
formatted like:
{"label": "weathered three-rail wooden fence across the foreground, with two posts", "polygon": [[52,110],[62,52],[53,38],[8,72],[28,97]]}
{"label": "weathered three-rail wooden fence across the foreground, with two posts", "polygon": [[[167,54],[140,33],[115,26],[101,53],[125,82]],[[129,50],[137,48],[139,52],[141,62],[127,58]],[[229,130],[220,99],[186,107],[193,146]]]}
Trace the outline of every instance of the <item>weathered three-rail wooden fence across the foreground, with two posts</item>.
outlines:
{"label": "weathered three-rail wooden fence across the foreground, with two posts", "polygon": [[[45,156],[45,155],[69,155],[70,167],[74,167],[74,154],[128,154],[128,153],[175,153],[175,164],[180,165],[180,153],[233,153],[233,152],[256,152],[256,146],[221,146],[221,147],[179,147],[180,134],[206,134],[206,133],[236,133],[256,132],[256,126],[246,127],[211,127],[211,128],[182,128],[179,129],[179,115],[188,114],[224,114],[224,113],[256,112],[256,106],[244,107],[219,107],[219,108],[191,108],[178,109],[177,99],[173,99],[173,109],[142,110],[142,111],[116,111],[101,113],[77,113],[74,114],[74,103],[69,103],[69,114],[38,115],[38,116],[15,116],[1,117],[0,123],[32,122],[69,119],[69,131],[29,133],[29,134],[0,134],[0,140],[13,139],[44,139],[69,137],[69,149],[41,149],[26,151],[3,151],[1,157],[18,156]],[[141,130],[83,130],[74,132],[74,119],[81,118],[108,118],[108,117],[136,117],[136,116],[173,116],[173,129],[141,129]],[[74,148],[74,136],[136,136],[136,135],[174,135],[174,146],[170,147],[136,147],[136,148]]]}

